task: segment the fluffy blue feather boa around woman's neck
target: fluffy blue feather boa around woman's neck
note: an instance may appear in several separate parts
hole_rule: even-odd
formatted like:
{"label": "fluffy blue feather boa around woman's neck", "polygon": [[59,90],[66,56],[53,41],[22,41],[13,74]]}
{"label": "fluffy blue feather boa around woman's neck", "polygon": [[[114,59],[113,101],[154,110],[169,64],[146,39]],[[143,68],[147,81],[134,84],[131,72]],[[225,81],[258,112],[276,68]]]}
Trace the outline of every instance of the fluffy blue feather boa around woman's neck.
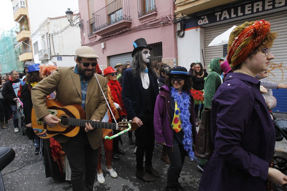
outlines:
{"label": "fluffy blue feather boa around woman's neck", "polygon": [[195,159],[194,152],[192,150],[192,125],[190,123],[190,113],[188,107],[190,106],[190,96],[186,92],[179,94],[178,90],[171,87],[171,97],[174,101],[177,101],[177,106],[180,109],[179,117],[181,119],[181,127],[183,127],[183,148],[187,151],[190,160]]}

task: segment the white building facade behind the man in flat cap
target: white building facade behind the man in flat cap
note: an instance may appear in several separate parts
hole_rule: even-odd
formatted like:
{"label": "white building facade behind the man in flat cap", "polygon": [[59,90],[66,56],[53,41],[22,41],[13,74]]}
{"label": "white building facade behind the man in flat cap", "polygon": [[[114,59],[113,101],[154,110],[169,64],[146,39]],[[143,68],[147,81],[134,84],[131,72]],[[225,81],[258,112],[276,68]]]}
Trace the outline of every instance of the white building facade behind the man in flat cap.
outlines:
{"label": "white building facade behind the man in flat cap", "polygon": [[[79,21],[77,14],[74,21]],[[31,35],[35,63],[74,66],[75,50],[81,46],[80,28],[71,27],[67,16],[46,18]]]}

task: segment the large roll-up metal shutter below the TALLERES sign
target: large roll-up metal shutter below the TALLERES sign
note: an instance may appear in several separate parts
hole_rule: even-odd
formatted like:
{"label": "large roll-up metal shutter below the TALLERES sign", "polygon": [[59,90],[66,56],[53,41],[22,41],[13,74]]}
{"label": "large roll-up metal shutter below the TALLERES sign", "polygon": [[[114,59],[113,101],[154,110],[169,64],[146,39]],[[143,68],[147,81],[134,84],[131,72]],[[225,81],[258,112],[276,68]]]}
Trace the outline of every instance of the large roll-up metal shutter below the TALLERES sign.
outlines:
{"label": "large roll-up metal shutter below the TALLERES sign", "polygon": [[[223,46],[208,46],[208,44],[218,35],[228,30],[233,25],[240,25],[245,21],[255,21],[265,19],[271,24],[271,31],[278,32],[271,48],[274,60],[269,65],[269,80],[277,83],[287,83],[287,11],[276,12],[267,15],[251,17],[239,21],[233,21],[222,25],[205,27],[205,63],[208,65],[214,58],[223,56]],[[277,105],[272,110],[274,112],[287,113],[287,90],[273,90],[273,95],[277,99]]]}

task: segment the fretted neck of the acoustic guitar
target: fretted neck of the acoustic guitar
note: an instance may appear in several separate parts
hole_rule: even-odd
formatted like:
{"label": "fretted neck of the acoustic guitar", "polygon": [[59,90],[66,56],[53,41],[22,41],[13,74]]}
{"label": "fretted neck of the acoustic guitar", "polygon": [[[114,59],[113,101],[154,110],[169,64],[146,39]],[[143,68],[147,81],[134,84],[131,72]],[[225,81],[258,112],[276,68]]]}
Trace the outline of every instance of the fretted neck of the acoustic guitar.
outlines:
{"label": "fretted neck of the acoustic guitar", "polygon": [[80,126],[85,127],[85,123],[90,123],[94,128],[101,129],[114,129],[117,130],[117,123],[106,123],[100,121],[91,121],[86,119],[76,119],[76,118],[61,118],[61,123],[63,125],[72,125],[72,126]]}

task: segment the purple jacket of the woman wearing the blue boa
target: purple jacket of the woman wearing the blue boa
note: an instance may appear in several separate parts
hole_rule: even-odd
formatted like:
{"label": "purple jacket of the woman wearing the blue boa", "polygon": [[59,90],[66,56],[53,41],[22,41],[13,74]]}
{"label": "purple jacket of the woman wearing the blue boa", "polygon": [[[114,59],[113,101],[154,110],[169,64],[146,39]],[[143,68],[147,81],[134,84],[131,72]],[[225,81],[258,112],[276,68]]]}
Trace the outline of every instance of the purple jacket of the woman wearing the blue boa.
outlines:
{"label": "purple jacket of the woman wearing the blue boa", "polygon": [[[157,143],[166,143],[166,146],[173,146],[173,129],[171,128],[171,113],[170,113],[170,89],[164,85],[160,88],[160,93],[156,98],[156,105],[154,107],[154,134]],[[190,96],[190,123],[192,125],[192,136],[196,137],[195,129],[195,113],[193,107],[193,98],[190,92],[187,92]],[[195,144],[196,138],[193,138]]]}

